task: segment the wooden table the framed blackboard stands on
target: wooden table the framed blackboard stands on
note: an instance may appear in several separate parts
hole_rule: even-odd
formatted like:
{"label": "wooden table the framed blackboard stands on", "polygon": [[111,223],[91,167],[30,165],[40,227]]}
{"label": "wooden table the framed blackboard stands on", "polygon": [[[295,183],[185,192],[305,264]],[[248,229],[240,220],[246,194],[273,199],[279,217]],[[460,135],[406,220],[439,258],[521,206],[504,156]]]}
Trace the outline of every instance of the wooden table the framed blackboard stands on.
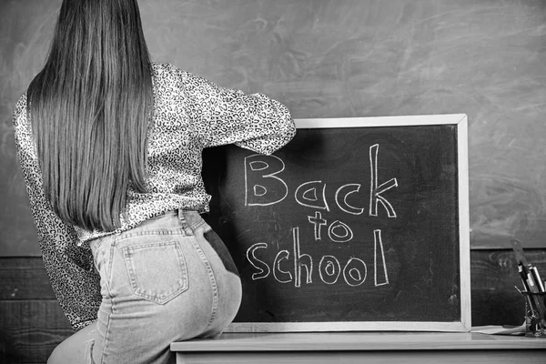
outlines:
{"label": "wooden table the framed blackboard stands on", "polygon": [[171,344],[190,363],[546,363],[546,339],[452,332],[225,333]]}

